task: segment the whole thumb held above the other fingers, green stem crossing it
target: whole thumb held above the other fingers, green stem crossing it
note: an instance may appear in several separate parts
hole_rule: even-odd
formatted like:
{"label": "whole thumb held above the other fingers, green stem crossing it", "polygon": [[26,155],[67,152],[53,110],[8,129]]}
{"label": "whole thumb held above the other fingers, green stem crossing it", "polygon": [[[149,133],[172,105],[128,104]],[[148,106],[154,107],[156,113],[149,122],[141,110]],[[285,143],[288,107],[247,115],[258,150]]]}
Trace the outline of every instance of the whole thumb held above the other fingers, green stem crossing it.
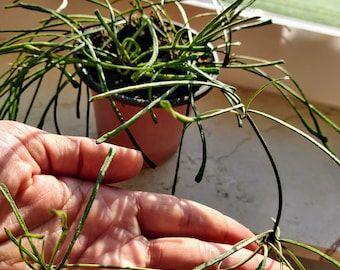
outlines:
{"label": "whole thumb held above the other fingers, green stem crossing it", "polygon": [[12,133],[27,151],[23,156],[33,158],[40,167],[39,173],[95,180],[111,147],[116,155],[107,171],[106,182],[133,177],[142,167],[141,154],[132,149],[96,144],[90,138],[50,134],[18,122],[4,121],[1,124],[2,128],[7,125],[8,130],[14,126]]}

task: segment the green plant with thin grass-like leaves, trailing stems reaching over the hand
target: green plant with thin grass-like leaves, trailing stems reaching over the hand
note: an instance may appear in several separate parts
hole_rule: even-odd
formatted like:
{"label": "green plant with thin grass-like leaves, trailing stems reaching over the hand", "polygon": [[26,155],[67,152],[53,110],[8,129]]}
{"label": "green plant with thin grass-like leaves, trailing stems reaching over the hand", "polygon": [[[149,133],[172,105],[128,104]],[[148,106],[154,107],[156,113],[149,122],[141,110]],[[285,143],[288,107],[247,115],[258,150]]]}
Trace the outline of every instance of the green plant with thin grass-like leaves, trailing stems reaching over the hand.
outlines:
{"label": "green plant with thin grass-like leaves, trailing stems reaching over the hand", "polygon": [[[85,1],[85,0],[84,0]],[[79,1],[80,2],[80,1]],[[153,113],[156,107],[161,107],[175,119],[183,123],[183,135],[187,127],[191,124],[197,124],[203,146],[202,165],[196,177],[196,181],[202,180],[206,165],[206,143],[204,136],[203,124],[209,118],[224,114],[232,113],[236,116],[237,124],[242,126],[243,121],[249,121],[254,129],[255,134],[260,139],[269,161],[273,167],[275,179],[278,186],[279,207],[278,213],[274,220],[272,229],[257,235],[252,239],[246,239],[234,246],[230,251],[216,258],[215,260],[206,262],[198,266],[196,269],[205,269],[213,265],[219,269],[220,262],[236,252],[242,247],[247,246],[251,242],[257,242],[258,250],[254,252],[263,253],[264,260],[260,262],[258,269],[263,269],[266,258],[275,253],[282,265],[294,269],[294,266],[288,261],[287,256],[292,258],[300,269],[304,269],[299,259],[290,252],[286,247],[286,243],[293,243],[315,252],[334,265],[339,266],[339,262],[329,256],[307,245],[282,239],[279,235],[279,222],[282,210],[282,189],[281,180],[276,169],[274,159],[270,153],[261,132],[252,119],[252,114],[267,117],[277,123],[280,123],[294,132],[304,136],[312,143],[322,149],[329,157],[340,165],[338,158],[332,153],[327,143],[326,136],[323,135],[319,121],[325,122],[331,128],[339,132],[339,127],[332,123],[319,110],[311,105],[300,89],[299,85],[293,77],[281,66],[283,61],[266,61],[258,59],[256,56],[240,56],[233,53],[233,47],[239,45],[233,39],[233,35],[237,31],[251,29],[269,24],[269,20],[261,20],[259,17],[243,17],[242,11],[248,8],[254,1],[236,0],[229,6],[225,6],[222,2],[213,1],[215,9],[208,13],[196,14],[189,17],[186,13],[186,6],[182,5],[180,0],[159,0],[144,1],[134,0],[129,3],[129,7],[120,10],[117,6],[123,1],[114,1],[113,4],[108,0],[88,0],[93,5],[95,11],[91,14],[67,14],[64,12],[65,6],[61,5],[57,9],[45,8],[43,6],[26,4],[20,1],[14,1],[13,5],[8,8],[20,8],[26,11],[34,11],[37,14],[45,15],[46,18],[40,21],[40,24],[31,30],[4,30],[1,32],[13,33],[13,35],[0,43],[1,55],[13,54],[15,59],[12,65],[2,73],[0,79],[0,94],[3,102],[0,107],[0,119],[12,119],[27,122],[31,110],[36,102],[35,98],[40,91],[46,91],[42,87],[43,81],[48,78],[51,72],[59,72],[59,79],[55,86],[55,91],[51,95],[50,100],[46,101],[46,108],[41,112],[40,120],[37,126],[44,127],[47,113],[53,110],[55,115],[55,126],[59,133],[60,123],[57,117],[58,98],[61,93],[69,91],[69,86],[79,89],[79,96],[84,91],[82,83],[86,81],[83,75],[79,76],[79,69],[88,72],[94,72],[97,83],[100,86],[100,92],[89,99],[95,102],[99,99],[107,98],[111,102],[113,111],[120,117],[121,125],[115,127],[112,131],[104,134],[97,139],[98,143],[111,139],[122,131],[129,132],[129,127],[145,114],[150,114],[155,121],[157,115]],[[67,1],[63,1],[66,4]],[[126,4],[126,3],[125,3]],[[182,26],[177,27],[173,24],[168,6],[175,6],[182,18]],[[104,16],[103,14],[108,14]],[[190,25],[196,20],[205,19],[208,21],[201,29],[193,31]],[[131,36],[121,39],[119,33],[121,29],[128,25],[134,31]],[[94,28],[89,28],[95,26]],[[169,29],[171,31],[169,32]],[[145,34],[150,37],[151,41],[146,47],[138,43],[138,36]],[[98,44],[93,42],[94,36],[105,37],[103,42]],[[208,44],[212,44],[211,46]],[[110,50],[111,48],[112,50]],[[212,60],[211,55],[218,53],[220,60]],[[159,56],[166,55],[167,58]],[[209,61],[206,61],[209,59]],[[267,68],[275,68],[280,75],[272,76],[267,72]],[[220,73],[221,69],[242,69],[245,72],[256,74],[263,78],[266,82],[264,86],[254,92],[249,100],[241,100],[234,86],[228,84],[225,78],[218,79],[215,75]],[[120,76],[126,76],[126,81],[122,86],[113,87],[116,83],[109,81],[110,72],[116,71]],[[277,74],[277,72],[275,73]],[[290,83],[286,83],[289,81]],[[221,91],[225,97],[228,106],[225,108],[215,108],[208,112],[200,112],[195,104],[195,88],[201,86],[212,87],[212,91]],[[310,135],[301,130],[285,123],[284,121],[251,108],[252,102],[260,98],[267,87],[274,87],[291,105],[292,109],[297,113],[298,117],[309,131]],[[89,92],[89,89],[86,89]],[[162,91],[158,91],[162,90]],[[123,119],[119,109],[115,106],[115,98],[119,95],[130,94],[135,95],[144,91],[146,93],[147,104],[131,118]],[[19,119],[18,115],[23,110],[22,97],[27,92],[31,92],[30,106],[26,109],[23,119]],[[192,115],[181,113],[171,104],[171,99],[179,92],[185,92],[187,96],[186,105],[192,109]],[[70,94],[71,96],[71,94]],[[87,97],[90,95],[87,94]],[[26,101],[27,102],[27,101]],[[300,111],[298,105],[303,105],[308,112],[308,118]],[[311,119],[308,120],[308,119]],[[88,120],[86,120],[88,121]],[[129,133],[133,141],[133,134]],[[135,146],[138,148],[138,144]],[[143,149],[141,149],[143,150]],[[108,156],[108,160],[104,164],[103,169],[99,172],[98,181],[93,189],[90,201],[88,202],[86,211],[83,214],[81,223],[78,226],[77,233],[74,235],[67,253],[62,260],[63,263],[56,265],[53,256],[48,263],[39,257],[34,243],[30,241],[33,238],[39,238],[44,241],[43,236],[32,235],[20,217],[15,202],[11,199],[9,191],[4,185],[1,185],[1,192],[9,201],[18,222],[20,223],[24,235],[28,240],[30,249],[24,247],[20,239],[16,239],[10,231],[6,231],[8,237],[16,244],[22,254],[23,260],[31,268],[37,269],[62,269],[72,267],[82,268],[101,268],[101,265],[84,264],[84,265],[68,265],[66,263],[67,256],[72,251],[72,245],[81,233],[83,222],[85,222],[87,214],[91,208],[91,204],[96,196],[102,175],[105,168],[112,158]],[[147,156],[145,156],[147,159]],[[178,159],[180,161],[180,159]],[[151,161],[149,161],[151,162]],[[152,164],[152,163],[151,163]],[[178,164],[180,164],[178,162]],[[177,167],[177,169],[179,166]],[[173,193],[175,192],[176,181],[174,182]],[[62,212],[55,211],[60,215],[62,220],[63,234],[60,241],[56,244],[56,252],[59,245],[65,239],[67,228],[63,224],[66,223],[65,215]],[[43,252],[42,252],[43,253]],[[288,255],[287,255],[288,254]],[[245,258],[245,262],[249,258]],[[124,266],[105,266],[111,269],[126,269]],[[237,266],[232,269],[237,268]],[[132,268],[129,269],[139,269]]]}

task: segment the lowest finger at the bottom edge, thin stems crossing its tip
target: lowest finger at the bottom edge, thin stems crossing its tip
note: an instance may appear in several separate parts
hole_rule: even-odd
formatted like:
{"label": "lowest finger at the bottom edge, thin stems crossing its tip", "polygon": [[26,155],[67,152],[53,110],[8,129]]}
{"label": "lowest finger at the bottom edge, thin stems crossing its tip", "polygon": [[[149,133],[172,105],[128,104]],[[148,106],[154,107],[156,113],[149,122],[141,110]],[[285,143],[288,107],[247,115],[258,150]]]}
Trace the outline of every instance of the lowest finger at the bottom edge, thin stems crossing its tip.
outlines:
{"label": "lowest finger at the bottom edge, thin stems crossing its tip", "polygon": [[[193,269],[204,262],[230,250],[231,246],[200,241],[189,238],[162,238],[150,241],[149,261],[146,267],[157,269]],[[232,267],[243,262],[252,255],[252,251],[242,249],[223,260],[221,269]],[[262,255],[255,255],[237,269],[257,269],[262,261]],[[216,265],[213,268],[216,269]],[[267,259],[266,270],[279,270],[280,263]],[[283,268],[286,269],[286,268]]]}

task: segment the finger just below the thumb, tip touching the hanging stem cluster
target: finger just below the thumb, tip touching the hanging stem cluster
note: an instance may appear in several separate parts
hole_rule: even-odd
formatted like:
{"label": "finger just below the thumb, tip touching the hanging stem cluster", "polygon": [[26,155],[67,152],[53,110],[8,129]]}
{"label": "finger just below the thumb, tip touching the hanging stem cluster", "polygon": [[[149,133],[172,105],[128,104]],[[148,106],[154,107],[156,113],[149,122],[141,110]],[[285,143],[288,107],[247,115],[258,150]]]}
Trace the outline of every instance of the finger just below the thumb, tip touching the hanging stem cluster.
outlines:
{"label": "finger just below the thumb, tip touching the hanging stem cluster", "polygon": [[140,192],[137,196],[137,218],[143,234],[149,237],[186,236],[234,244],[253,236],[234,219],[199,203],[152,193]]}

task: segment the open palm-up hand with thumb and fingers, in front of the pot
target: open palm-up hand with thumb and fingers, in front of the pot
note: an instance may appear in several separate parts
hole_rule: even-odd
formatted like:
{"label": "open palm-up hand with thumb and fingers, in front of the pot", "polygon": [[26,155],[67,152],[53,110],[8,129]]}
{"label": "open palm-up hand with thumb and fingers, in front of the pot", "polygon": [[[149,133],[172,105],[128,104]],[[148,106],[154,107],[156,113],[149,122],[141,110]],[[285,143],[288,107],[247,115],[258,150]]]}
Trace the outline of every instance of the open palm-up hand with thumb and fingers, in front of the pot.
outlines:
{"label": "open palm-up hand with thumb and fingers, in front of the pot", "polygon": [[[29,230],[46,236],[46,261],[61,228],[60,218],[50,210],[66,212],[71,232],[57,263],[110,147],[88,138],[53,135],[17,122],[0,121],[0,181],[10,190]],[[105,183],[131,178],[142,167],[139,152],[114,148],[116,155]],[[28,269],[4,233],[5,227],[16,237],[21,231],[1,194],[0,205],[0,269]],[[193,201],[102,185],[67,263],[192,269],[252,236],[235,220]],[[238,252],[223,267],[242,260],[249,252]],[[255,269],[259,260],[260,255],[239,269]],[[280,268],[268,261],[266,269]]]}

